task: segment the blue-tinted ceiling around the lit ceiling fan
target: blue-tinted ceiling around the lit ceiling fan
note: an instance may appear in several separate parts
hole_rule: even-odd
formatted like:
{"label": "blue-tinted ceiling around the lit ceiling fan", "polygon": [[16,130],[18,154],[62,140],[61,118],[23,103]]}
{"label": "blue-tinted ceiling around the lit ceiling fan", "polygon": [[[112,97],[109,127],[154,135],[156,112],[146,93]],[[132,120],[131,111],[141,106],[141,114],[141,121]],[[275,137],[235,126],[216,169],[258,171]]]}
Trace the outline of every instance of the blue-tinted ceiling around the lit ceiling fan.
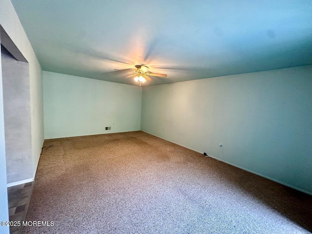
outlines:
{"label": "blue-tinted ceiling around the lit ceiling fan", "polygon": [[45,71],[144,85],[312,64],[311,0],[12,0]]}

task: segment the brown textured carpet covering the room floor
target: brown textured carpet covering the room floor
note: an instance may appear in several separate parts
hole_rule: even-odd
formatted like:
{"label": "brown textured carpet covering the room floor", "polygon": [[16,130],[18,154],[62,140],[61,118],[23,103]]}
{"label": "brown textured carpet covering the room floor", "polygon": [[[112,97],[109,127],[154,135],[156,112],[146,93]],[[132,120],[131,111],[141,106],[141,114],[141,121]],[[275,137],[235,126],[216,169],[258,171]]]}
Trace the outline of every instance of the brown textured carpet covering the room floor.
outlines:
{"label": "brown textured carpet covering the room floor", "polygon": [[24,234],[312,231],[312,196],[143,132],[44,144]]}

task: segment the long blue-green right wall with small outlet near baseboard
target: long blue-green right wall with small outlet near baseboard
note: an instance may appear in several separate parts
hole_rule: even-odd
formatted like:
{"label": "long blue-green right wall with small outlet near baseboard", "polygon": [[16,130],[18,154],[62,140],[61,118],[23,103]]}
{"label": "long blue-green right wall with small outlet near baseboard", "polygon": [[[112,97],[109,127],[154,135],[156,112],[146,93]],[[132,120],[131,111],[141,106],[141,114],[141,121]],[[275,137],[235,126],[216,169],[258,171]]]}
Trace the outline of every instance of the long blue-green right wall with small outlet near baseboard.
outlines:
{"label": "long blue-green right wall with small outlet near baseboard", "polygon": [[312,193],[311,65],[144,87],[141,129]]}

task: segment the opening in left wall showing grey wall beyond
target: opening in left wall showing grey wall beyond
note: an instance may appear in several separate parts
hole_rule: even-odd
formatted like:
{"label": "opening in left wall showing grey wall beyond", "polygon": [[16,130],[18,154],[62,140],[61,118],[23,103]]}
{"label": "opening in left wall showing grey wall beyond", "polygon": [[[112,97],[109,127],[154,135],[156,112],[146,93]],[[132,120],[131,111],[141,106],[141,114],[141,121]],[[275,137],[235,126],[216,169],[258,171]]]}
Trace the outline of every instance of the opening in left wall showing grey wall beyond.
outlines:
{"label": "opening in left wall showing grey wall beyond", "polygon": [[0,27],[7,184],[33,177],[29,66]]}

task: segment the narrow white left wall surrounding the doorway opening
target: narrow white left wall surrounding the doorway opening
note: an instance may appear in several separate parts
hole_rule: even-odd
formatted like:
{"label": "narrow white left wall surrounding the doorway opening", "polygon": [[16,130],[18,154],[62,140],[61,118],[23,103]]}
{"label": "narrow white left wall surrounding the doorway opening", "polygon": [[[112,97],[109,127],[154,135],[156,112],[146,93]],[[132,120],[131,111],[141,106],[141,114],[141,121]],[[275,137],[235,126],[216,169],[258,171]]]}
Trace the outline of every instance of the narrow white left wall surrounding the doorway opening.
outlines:
{"label": "narrow white left wall surrounding the doorway opening", "polygon": [[[33,179],[37,170],[43,137],[42,70],[10,0],[0,0],[0,25],[29,63],[31,148]],[[19,181],[16,181],[17,183]]]}

